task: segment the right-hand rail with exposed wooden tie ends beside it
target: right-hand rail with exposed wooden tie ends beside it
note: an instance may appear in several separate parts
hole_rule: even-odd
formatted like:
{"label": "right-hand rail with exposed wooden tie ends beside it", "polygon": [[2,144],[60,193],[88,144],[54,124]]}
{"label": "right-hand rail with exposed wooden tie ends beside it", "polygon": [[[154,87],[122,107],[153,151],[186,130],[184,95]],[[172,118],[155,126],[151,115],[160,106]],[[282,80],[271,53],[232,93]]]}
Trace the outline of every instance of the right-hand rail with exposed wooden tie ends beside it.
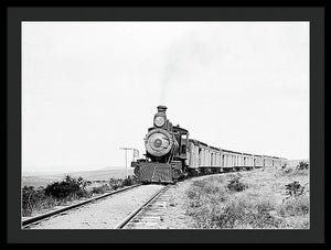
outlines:
{"label": "right-hand rail with exposed wooden tie ends beside it", "polygon": [[142,206],[136,208],[129,216],[119,222],[115,229],[152,228],[158,226],[162,217],[162,210],[167,208],[169,196],[164,193],[174,185],[167,185],[158,191]]}

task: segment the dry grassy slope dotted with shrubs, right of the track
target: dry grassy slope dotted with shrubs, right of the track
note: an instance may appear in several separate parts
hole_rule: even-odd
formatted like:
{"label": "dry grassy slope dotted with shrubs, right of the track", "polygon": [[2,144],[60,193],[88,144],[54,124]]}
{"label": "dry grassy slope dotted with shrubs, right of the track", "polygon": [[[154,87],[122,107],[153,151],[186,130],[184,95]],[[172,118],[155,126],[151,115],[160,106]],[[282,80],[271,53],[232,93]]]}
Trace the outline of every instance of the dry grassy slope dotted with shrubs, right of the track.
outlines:
{"label": "dry grassy slope dotted with shrubs, right of the track", "polygon": [[288,167],[194,181],[186,214],[196,228],[308,229],[309,173],[307,167]]}

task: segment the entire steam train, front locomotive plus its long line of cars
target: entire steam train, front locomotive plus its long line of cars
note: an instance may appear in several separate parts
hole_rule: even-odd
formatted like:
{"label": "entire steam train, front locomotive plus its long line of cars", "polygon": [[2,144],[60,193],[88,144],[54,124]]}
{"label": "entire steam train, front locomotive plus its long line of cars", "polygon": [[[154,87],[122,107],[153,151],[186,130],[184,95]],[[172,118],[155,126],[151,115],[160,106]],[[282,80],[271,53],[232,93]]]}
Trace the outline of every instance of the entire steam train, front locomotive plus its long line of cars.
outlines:
{"label": "entire steam train, front locomotive plus its long line of cars", "polygon": [[146,157],[131,162],[141,183],[175,183],[192,175],[286,164],[285,157],[241,153],[189,139],[188,130],[167,119],[166,106],[157,108],[145,138]]}

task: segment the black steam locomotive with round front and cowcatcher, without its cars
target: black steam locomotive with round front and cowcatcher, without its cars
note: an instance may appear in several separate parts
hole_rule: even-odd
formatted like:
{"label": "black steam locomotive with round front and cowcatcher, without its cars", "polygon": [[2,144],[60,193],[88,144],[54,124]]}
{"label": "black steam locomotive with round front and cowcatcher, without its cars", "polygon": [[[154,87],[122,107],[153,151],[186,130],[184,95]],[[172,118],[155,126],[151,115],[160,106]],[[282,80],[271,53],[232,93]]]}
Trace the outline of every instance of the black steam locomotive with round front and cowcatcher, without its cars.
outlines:
{"label": "black steam locomotive with round front and cowcatcher, without its cars", "polygon": [[167,119],[167,107],[158,106],[153,127],[145,138],[146,159],[131,162],[142,183],[173,183],[188,173],[189,131]]}

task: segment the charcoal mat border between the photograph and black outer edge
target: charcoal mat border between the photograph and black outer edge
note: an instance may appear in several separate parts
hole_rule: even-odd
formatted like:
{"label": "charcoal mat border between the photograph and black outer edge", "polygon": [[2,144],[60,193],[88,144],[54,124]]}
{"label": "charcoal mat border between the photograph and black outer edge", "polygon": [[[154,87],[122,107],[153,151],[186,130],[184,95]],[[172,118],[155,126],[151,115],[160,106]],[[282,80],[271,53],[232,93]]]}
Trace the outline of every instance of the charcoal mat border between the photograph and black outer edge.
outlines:
{"label": "charcoal mat border between the photograph and black outer edge", "polygon": [[[309,230],[22,230],[22,21],[308,21],[310,22]],[[324,8],[7,8],[7,242],[8,243],[323,243],[324,242]]]}

